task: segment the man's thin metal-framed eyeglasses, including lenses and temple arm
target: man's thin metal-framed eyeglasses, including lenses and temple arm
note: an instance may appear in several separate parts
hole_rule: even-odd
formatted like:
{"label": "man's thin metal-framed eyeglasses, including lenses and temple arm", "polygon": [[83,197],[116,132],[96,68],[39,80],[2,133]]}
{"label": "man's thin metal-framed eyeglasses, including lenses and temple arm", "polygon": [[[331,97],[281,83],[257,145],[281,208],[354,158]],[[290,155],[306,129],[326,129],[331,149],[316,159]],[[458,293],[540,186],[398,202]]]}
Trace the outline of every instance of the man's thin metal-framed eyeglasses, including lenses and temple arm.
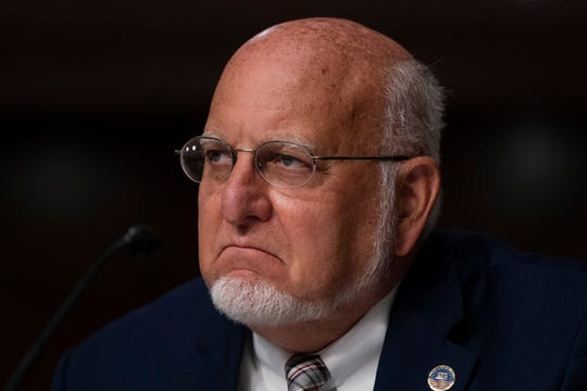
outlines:
{"label": "man's thin metal-framed eyeglasses, including lenses and temple arm", "polygon": [[184,173],[195,182],[226,179],[238,152],[253,154],[254,169],[277,188],[297,188],[310,181],[319,160],[375,160],[400,162],[408,156],[314,156],[304,146],[292,141],[267,141],[258,149],[233,148],[214,137],[198,136],[186,142],[179,154]]}

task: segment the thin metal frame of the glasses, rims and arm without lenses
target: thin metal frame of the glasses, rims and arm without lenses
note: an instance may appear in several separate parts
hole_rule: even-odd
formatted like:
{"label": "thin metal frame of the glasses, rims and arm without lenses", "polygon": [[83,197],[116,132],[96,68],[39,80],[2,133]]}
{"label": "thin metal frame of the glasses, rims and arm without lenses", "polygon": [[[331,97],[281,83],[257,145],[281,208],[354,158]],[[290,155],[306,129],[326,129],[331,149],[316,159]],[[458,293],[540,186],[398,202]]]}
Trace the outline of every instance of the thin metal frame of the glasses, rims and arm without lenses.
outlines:
{"label": "thin metal frame of the glasses, rims and arm without lenses", "polygon": [[[352,156],[352,155],[332,155],[332,156],[316,156],[314,154],[312,154],[312,151],[310,151],[308,149],[308,147],[299,143],[299,142],[296,142],[296,141],[289,141],[289,140],[270,140],[270,141],[265,141],[263,142],[262,144],[260,144],[257,149],[249,149],[249,148],[233,148],[228,142],[217,138],[217,137],[211,137],[211,136],[196,136],[191,139],[189,139],[185,144],[184,147],[182,147],[180,150],[175,150],[175,154],[179,155],[179,163],[182,165],[182,169],[184,171],[184,174],[186,174],[186,176],[195,181],[196,184],[201,184],[202,180],[196,180],[192,175],[189,174],[189,171],[186,168],[185,164],[184,164],[184,159],[183,159],[183,155],[184,155],[184,151],[186,150],[187,146],[188,144],[191,144],[193,143],[195,140],[211,140],[211,141],[215,141],[215,142],[218,142],[220,144],[226,147],[226,150],[230,152],[230,157],[232,157],[232,162],[233,164],[230,165],[230,169],[228,169],[228,172],[226,173],[226,176],[221,178],[220,180],[224,180],[226,178],[228,178],[228,176],[230,176],[230,173],[233,172],[233,168],[235,167],[235,164],[237,162],[237,159],[238,159],[238,152],[248,152],[248,153],[252,153],[253,154],[253,166],[254,166],[254,171],[257,172],[257,174],[259,174],[259,176],[261,178],[263,178],[263,180],[265,180],[267,184],[270,184],[271,186],[274,186],[276,188],[279,188],[279,189],[289,189],[289,188],[299,188],[299,187],[302,187],[304,186],[305,184],[308,184],[314,176],[315,172],[316,172],[316,161],[389,161],[389,162],[403,162],[403,161],[407,161],[407,160],[410,160],[412,159],[412,156],[407,156],[407,155],[375,155],[375,156]],[[259,167],[259,162],[258,162],[258,151],[260,149],[262,149],[264,146],[268,144],[268,143],[273,143],[273,142],[285,142],[285,143],[290,143],[290,144],[295,144],[297,147],[300,147],[302,149],[304,149],[305,151],[308,151],[308,155],[312,159],[312,174],[310,174],[310,176],[308,177],[308,179],[305,181],[303,181],[302,184],[300,185],[292,185],[292,186],[283,186],[283,185],[276,185],[272,181],[270,181],[265,175],[263,175],[263,173],[261,172],[260,167]]]}

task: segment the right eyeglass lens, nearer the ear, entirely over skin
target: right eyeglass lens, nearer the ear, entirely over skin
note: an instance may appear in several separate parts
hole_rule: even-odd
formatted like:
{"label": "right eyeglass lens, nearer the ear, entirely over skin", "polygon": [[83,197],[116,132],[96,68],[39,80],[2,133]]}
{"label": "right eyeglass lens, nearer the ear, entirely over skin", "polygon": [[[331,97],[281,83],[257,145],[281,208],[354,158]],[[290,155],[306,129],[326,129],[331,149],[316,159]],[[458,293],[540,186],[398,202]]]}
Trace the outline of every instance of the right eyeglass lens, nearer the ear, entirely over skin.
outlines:
{"label": "right eyeglass lens, nearer the ear, entirely over skin", "polygon": [[277,187],[299,187],[310,180],[315,171],[310,151],[288,141],[270,141],[257,150],[257,169]]}

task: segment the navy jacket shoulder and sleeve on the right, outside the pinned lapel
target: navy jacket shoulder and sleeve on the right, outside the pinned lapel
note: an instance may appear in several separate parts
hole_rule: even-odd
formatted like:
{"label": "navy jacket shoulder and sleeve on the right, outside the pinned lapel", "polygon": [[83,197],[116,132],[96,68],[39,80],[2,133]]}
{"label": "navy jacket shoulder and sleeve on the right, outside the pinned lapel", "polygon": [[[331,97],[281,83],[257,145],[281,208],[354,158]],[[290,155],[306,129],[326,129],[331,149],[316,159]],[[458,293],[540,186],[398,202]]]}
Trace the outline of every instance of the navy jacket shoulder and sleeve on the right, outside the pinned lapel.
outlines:
{"label": "navy jacket shoulder and sleeve on the right, outside the pinned lapel", "polygon": [[[459,303],[451,338],[478,354],[477,381],[523,389],[527,374],[540,374],[551,384],[545,389],[585,389],[587,262],[527,253],[464,231],[430,234],[421,254],[410,293],[426,291],[440,308]],[[454,289],[429,288],[435,283]]]}

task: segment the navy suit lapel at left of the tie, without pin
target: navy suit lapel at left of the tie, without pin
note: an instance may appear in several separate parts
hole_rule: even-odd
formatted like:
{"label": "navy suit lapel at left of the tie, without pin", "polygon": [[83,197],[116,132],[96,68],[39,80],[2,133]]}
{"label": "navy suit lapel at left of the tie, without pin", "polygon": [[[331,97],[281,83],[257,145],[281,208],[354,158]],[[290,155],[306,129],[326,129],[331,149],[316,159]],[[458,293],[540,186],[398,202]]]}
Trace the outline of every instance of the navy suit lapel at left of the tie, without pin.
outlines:
{"label": "navy suit lapel at left of the tie, without pin", "polygon": [[245,340],[250,331],[222,315],[195,336],[185,364],[173,374],[170,391],[237,390]]}

